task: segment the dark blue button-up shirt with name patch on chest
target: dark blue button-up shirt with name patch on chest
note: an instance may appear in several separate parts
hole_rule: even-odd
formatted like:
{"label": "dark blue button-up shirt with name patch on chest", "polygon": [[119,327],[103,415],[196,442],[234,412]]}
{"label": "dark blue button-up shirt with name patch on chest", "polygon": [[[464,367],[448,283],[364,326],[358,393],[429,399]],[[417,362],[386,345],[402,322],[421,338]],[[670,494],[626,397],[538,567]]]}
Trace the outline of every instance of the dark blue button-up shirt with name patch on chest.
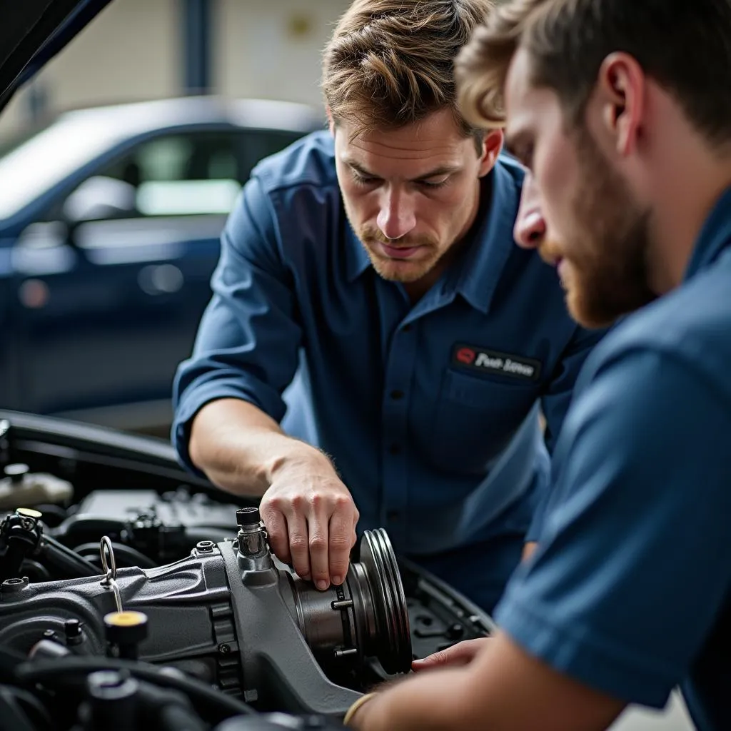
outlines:
{"label": "dark blue button-up shirt with name patch on chest", "polygon": [[175,379],[181,461],[193,469],[189,426],[208,401],[242,398],[281,420],[303,350],[319,446],[360,529],[385,526],[412,554],[499,531],[507,507],[548,483],[537,403],[550,448],[599,338],[569,318],[556,273],[513,242],[522,177],[499,160],[461,257],[412,305],[349,226],[329,133],[262,162]]}

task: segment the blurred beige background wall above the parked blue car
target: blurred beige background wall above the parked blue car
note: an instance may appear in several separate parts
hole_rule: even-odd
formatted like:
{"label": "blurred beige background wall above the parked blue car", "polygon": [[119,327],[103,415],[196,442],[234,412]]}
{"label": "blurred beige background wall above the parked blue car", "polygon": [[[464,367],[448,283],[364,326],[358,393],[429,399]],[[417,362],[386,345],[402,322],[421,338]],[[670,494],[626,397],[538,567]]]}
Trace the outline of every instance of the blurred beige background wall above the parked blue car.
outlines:
{"label": "blurred beige background wall above the parked blue car", "polygon": [[[319,56],[349,0],[215,0],[213,82],[226,96],[319,105]],[[114,0],[48,64],[52,112],[181,94],[178,0]],[[29,124],[29,90],[0,117],[0,141]]]}

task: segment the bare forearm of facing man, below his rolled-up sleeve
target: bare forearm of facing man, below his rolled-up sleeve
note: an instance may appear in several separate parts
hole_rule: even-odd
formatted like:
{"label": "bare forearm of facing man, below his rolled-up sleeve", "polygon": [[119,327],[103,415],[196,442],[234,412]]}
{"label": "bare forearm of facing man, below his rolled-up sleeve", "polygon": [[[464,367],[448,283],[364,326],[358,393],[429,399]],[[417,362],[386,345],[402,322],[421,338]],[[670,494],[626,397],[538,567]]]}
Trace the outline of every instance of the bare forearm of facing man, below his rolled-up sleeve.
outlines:
{"label": "bare forearm of facing man, below his rolled-up sleeve", "polygon": [[334,474],[322,452],[287,436],[268,414],[235,398],[211,401],[200,409],[189,451],[211,482],[236,495],[263,495],[274,475],[290,466],[322,463],[322,470]]}

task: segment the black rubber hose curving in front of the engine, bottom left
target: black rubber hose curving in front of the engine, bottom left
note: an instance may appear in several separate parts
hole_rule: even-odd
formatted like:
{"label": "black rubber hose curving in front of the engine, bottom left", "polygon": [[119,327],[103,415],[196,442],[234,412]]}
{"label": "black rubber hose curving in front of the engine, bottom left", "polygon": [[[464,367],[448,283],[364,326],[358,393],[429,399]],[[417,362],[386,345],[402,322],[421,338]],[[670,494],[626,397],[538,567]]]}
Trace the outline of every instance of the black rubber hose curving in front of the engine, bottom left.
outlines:
{"label": "black rubber hose curving in front of the engine, bottom left", "polygon": [[164,688],[173,688],[186,694],[191,702],[205,706],[206,718],[212,716],[215,722],[230,716],[254,713],[250,705],[230,695],[215,691],[201,681],[181,675],[165,673],[161,667],[146,662],[117,660],[103,657],[73,657],[52,661],[24,662],[15,668],[15,678],[20,683],[43,683],[46,686],[73,683],[78,673],[95,673],[97,670],[127,670],[130,675],[144,681],[156,683]]}

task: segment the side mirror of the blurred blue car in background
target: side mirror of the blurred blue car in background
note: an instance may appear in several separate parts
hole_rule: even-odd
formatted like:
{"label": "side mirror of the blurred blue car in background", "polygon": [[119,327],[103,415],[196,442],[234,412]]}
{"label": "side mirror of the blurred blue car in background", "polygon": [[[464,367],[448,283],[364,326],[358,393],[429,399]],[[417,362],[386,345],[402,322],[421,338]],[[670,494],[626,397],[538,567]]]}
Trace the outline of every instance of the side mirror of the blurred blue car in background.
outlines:
{"label": "side mirror of the blurred blue car in background", "polygon": [[105,175],[94,175],[67,197],[62,209],[70,228],[84,221],[118,219],[137,210],[135,186]]}

